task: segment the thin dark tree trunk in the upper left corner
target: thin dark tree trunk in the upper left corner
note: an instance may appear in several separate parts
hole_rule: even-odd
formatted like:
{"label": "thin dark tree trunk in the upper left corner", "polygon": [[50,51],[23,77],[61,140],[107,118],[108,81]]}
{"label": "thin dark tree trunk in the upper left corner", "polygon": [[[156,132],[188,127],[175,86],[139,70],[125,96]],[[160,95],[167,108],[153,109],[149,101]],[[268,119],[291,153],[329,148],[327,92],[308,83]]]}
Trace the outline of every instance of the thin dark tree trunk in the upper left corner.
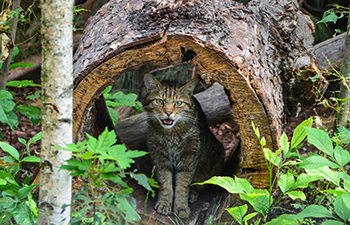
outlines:
{"label": "thin dark tree trunk in the upper left corner", "polygon": [[[12,11],[15,11],[16,9],[21,7],[21,0],[13,0],[12,2]],[[0,90],[5,90],[6,88],[6,82],[7,82],[7,76],[9,75],[10,72],[10,64],[12,60],[12,55],[13,55],[13,48],[15,47],[15,39],[16,39],[16,31],[17,31],[17,18],[12,18],[11,22],[11,36],[10,36],[10,44],[9,44],[9,56],[7,59],[4,61],[1,67],[0,71]]]}

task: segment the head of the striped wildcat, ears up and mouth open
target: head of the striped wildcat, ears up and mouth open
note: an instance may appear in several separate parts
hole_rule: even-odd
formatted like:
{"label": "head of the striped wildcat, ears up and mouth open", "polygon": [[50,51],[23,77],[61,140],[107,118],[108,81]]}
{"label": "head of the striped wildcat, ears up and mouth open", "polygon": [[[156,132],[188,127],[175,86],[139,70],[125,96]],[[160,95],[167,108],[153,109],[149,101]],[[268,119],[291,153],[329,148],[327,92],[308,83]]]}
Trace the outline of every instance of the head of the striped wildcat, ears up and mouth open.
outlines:
{"label": "head of the striped wildcat, ears up and mouth open", "polygon": [[179,121],[190,121],[194,103],[191,100],[197,79],[189,81],[182,87],[163,85],[146,74],[144,77],[148,95],[145,110],[155,117],[164,128],[172,128]]}

